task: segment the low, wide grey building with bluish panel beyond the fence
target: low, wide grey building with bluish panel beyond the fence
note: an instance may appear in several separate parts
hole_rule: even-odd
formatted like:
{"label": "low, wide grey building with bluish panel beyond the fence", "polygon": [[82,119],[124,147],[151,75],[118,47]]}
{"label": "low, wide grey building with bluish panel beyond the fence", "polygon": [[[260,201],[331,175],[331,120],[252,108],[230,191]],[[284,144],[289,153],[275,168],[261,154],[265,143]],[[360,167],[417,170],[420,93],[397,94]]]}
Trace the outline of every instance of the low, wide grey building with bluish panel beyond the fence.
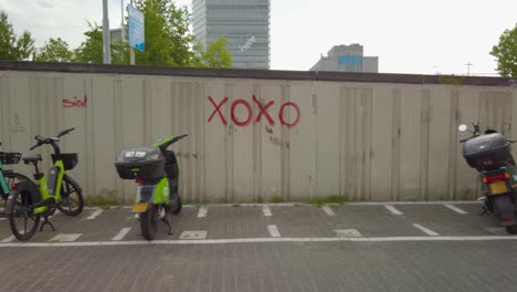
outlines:
{"label": "low, wide grey building with bluish panel beyond the fence", "polygon": [[363,56],[362,45],[335,45],[310,71],[379,72],[379,56]]}

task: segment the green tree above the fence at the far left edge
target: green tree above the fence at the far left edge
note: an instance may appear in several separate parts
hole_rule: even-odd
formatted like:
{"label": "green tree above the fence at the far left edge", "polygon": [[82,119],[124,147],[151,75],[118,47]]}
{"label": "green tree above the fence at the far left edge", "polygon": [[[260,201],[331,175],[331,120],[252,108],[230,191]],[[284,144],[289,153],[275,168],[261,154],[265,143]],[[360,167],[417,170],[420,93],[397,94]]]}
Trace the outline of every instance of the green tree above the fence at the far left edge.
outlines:
{"label": "green tree above the fence at the far left edge", "polygon": [[0,60],[23,61],[34,52],[34,39],[24,31],[20,38],[14,34],[6,11],[0,11]]}

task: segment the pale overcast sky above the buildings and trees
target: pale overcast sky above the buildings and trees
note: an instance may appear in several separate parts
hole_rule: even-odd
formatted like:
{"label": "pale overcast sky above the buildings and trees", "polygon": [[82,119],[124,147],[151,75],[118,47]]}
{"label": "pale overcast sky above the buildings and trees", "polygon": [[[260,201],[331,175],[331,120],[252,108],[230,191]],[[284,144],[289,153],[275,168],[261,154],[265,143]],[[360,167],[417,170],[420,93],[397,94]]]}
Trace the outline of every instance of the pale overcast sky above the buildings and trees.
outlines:
{"label": "pale overcast sky above the buildings and trees", "polygon": [[[123,1],[108,0],[112,29]],[[62,38],[77,48],[102,9],[103,0],[0,0],[14,32],[30,31],[36,46]],[[380,73],[497,75],[489,51],[516,24],[516,0],[271,0],[271,69],[307,71],[334,45],[359,43],[379,56]]]}

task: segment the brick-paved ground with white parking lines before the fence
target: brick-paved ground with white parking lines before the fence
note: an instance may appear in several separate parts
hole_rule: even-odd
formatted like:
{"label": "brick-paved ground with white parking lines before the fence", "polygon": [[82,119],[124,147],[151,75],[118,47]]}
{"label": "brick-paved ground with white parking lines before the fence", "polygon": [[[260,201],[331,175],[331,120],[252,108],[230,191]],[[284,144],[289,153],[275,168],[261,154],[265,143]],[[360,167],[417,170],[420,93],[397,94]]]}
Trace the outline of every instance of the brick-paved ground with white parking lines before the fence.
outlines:
{"label": "brick-paved ground with white parking lines before the fence", "polygon": [[517,237],[475,202],[187,206],[141,238],[129,208],[0,221],[0,291],[515,291]]}

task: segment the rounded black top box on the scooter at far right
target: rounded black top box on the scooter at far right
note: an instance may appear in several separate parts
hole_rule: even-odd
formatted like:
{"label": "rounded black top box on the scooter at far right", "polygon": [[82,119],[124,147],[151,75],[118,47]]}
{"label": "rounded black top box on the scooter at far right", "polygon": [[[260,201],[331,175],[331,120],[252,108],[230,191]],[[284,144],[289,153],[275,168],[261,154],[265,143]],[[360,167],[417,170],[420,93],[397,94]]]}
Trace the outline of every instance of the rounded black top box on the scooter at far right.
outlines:
{"label": "rounded black top box on the scooter at far right", "polygon": [[465,142],[463,157],[479,171],[498,169],[511,159],[510,143],[498,133],[482,135]]}

